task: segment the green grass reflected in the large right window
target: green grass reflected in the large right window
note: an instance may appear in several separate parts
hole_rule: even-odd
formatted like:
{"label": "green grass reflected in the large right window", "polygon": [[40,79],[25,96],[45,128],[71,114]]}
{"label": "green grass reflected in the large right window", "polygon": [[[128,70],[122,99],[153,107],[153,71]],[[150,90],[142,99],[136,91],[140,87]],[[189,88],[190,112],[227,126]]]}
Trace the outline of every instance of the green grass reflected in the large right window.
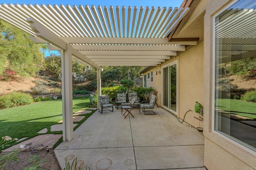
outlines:
{"label": "green grass reflected in the large right window", "polygon": [[236,115],[256,119],[256,103],[234,99],[217,99],[216,109],[230,111]]}

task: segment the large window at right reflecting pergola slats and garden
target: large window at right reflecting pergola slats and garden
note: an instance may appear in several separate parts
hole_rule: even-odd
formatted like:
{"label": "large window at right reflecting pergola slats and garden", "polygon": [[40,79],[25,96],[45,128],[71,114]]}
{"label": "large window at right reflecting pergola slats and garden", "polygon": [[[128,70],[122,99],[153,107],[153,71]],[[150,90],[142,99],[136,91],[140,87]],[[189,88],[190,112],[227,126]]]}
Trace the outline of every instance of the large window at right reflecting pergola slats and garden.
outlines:
{"label": "large window at right reflecting pergola slats and garden", "polygon": [[256,151],[255,0],[238,0],[214,20],[214,130]]}

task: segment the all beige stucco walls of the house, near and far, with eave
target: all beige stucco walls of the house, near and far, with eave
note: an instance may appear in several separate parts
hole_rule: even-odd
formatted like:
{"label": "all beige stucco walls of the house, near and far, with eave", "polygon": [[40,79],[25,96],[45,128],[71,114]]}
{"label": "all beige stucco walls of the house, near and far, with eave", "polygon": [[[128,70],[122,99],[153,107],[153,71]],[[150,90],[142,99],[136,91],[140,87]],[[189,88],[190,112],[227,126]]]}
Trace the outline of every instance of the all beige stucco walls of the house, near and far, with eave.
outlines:
{"label": "all beige stucco walls of the house, near and far, with eave", "polygon": [[[214,126],[213,16],[230,2],[232,0],[194,0],[195,4],[190,9],[193,11],[186,20],[182,21],[180,24],[182,28],[178,28],[174,38],[200,37],[200,42],[162,65],[149,70],[158,71],[161,67],[162,71],[163,65],[178,60],[178,117],[183,118],[188,109],[193,109],[195,101],[204,106],[204,165],[209,170],[256,169],[256,152],[221,135],[212,128]],[[157,102],[162,104],[162,74],[154,75],[154,82],[151,86],[157,89]],[[185,121],[189,123],[189,117],[186,117]],[[192,119],[192,125],[197,127],[198,121]]]}

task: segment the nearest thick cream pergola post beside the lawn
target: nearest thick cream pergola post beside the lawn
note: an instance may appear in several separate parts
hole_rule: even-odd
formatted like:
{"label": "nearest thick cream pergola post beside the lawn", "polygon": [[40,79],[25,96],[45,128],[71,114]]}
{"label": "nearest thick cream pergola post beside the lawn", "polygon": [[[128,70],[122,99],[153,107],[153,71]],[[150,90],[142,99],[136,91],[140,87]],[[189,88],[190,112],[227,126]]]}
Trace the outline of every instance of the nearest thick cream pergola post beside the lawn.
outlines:
{"label": "nearest thick cream pergola post beside the lawn", "polygon": [[66,51],[62,51],[62,117],[63,117],[63,141],[73,139],[73,97],[72,97],[72,53],[71,45],[66,45]]}

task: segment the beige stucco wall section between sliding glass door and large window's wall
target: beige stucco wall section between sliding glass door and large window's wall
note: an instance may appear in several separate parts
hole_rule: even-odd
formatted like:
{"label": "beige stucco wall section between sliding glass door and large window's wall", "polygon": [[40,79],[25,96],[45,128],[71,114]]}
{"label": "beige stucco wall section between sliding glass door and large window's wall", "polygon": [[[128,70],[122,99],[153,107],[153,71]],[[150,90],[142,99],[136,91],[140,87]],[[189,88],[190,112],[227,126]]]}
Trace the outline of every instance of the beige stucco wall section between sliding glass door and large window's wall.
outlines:
{"label": "beige stucco wall section between sliding glass door and large window's wall", "polygon": [[[178,62],[178,91],[179,91],[179,111],[178,117],[184,118],[188,109],[193,110],[195,102],[198,101],[203,105],[204,100],[204,42],[200,41],[186,51],[179,54]],[[193,112],[191,115],[191,125],[193,127],[203,127],[203,122],[194,117],[198,113]],[[186,115],[185,121],[190,123],[190,115]]]}

